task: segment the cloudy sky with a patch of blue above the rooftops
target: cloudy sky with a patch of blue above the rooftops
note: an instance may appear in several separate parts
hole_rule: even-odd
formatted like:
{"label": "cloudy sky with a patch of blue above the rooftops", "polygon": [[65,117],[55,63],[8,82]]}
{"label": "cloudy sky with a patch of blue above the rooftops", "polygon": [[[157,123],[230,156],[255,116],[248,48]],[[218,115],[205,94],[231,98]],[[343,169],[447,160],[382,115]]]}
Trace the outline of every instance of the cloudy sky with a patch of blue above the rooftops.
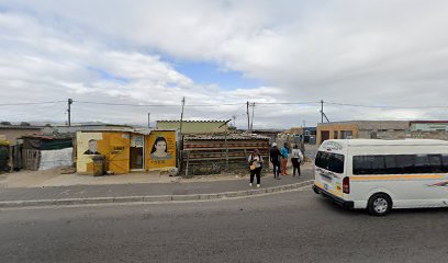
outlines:
{"label": "cloudy sky with a patch of blue above the rooftops", "polygon": [[[448,1],[0,0],[0,121],[448,119]],[[47,102],[43,104],[43,102]],[[38,104],[26,104],[38,103]],[[16,105],[19,104],[19,105]],[[232,122],[233,123],[233,122]]]}

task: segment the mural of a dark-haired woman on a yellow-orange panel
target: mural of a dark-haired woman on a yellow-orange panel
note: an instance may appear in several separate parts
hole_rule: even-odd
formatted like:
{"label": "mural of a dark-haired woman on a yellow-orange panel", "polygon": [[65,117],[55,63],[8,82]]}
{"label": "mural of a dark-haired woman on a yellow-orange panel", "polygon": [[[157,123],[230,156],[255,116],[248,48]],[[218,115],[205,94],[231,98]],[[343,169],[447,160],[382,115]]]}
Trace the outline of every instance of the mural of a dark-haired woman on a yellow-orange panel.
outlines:
{"label": "mural of a dark-haired woman on a yellow-orange panel", "polygon": [[146,145],[146,170],[176,167],[176,132],[152,132]]}

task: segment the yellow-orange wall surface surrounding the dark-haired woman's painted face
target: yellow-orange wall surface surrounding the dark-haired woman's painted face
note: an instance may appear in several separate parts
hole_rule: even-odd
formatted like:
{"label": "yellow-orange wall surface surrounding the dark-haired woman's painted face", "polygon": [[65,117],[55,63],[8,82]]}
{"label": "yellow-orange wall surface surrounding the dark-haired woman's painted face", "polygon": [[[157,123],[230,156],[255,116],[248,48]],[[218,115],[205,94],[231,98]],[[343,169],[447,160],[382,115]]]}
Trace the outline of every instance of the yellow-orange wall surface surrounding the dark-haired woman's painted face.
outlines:
{"label": "yellow-orange wall surface surrounding the dark-haired woman's painted face", "polygon": [[[158,137],[166,140],[166,152],[153,152]],[[153,130],[145,138],[145,169],[164,170],[176,167],[176,132]]]}

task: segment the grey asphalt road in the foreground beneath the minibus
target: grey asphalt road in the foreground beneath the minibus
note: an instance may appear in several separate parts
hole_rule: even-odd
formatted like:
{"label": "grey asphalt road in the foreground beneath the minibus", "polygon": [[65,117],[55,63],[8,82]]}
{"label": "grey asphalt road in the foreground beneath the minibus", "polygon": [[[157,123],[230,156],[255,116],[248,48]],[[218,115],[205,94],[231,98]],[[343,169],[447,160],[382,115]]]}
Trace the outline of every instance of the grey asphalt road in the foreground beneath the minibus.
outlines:
{"label": "grey asphalt road in the foreground beneath the minibus", "polygon": [[0,262],[447,262],[447,222],[448,209],[378,218],[311,190],[0,210]]}

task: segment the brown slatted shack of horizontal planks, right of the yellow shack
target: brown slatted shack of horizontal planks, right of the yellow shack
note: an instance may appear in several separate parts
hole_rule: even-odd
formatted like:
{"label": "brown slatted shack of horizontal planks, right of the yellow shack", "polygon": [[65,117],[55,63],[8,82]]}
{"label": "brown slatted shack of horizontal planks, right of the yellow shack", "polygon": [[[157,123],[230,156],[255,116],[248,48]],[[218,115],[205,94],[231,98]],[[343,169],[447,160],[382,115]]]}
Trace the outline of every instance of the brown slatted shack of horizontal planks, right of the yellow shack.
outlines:
{"label": "brown slatted shack of horizontal planks, right of the yellow shack", "polygon": [[183,136],[182,171],[186,175],[247,170],[247,158],[258,149],[269,163],[269,137],[250,134]]}

